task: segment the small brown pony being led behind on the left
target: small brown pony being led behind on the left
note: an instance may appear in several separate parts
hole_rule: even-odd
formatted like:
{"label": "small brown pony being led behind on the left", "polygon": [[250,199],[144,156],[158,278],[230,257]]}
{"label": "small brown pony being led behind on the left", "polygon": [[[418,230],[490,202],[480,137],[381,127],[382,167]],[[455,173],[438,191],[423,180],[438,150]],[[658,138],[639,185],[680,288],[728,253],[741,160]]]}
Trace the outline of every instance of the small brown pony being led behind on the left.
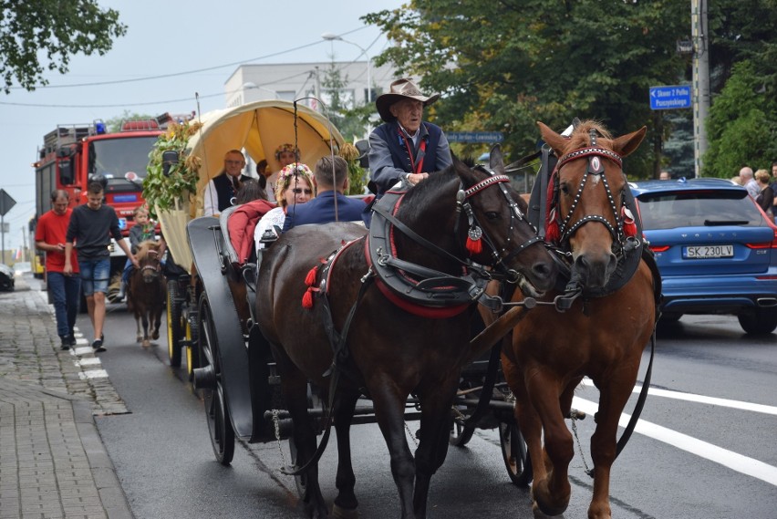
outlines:
{"label": "small brown pony being led behind on the left", "polygon": [[[140,268],[134,269],[129,275],[127,307],[135,314],[138,342],[142,341],[143,347],[148,348],[151,345],[150,337],[154,339],[160,337],[167,281],[161,275],[159,243],[152,240],[141,242],[138,246],[138,254],[135,255]],[[150,327],[152,329],[149,329]]]}

